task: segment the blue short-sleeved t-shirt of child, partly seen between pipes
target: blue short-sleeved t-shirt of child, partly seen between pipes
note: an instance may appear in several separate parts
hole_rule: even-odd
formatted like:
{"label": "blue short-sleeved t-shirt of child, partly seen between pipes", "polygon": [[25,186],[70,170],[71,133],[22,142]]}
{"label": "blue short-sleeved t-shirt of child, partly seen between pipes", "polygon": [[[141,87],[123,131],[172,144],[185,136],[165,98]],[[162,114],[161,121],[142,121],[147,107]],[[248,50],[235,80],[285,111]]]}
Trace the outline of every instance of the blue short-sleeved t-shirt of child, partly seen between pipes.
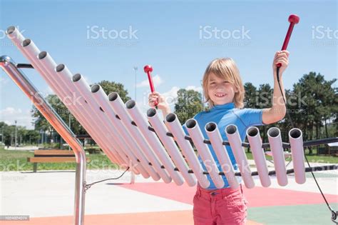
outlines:
{"label": "blue short-sleeved t-shirt of child, partly seen between pipes", "polygon": [[[208,134],[205,132],[205,125],[209,122],[214,122],[217,124],[218,130],[220,131],[220,135],[222,136],[223,141],[227,141],[227,135],[225,134],[225,127],[230,124],[234,124],[237,126],[238,132],[240,134],[240,139],[242,141],[245,140],[245,132],[249,126],[261,126],[264,125],[262,122],[262,109],[237,109],[235,108],[234,103],[227,103],[222,105],[216,105],[210,109],[210,111],[201,111],[200,113],[196,114],[193,118],[198,122],[198,126],[202,131],[202,134],[205,139],[209,139]],[[183,125],[183,130],[185,134],[188,134],[188,131]],[[222,168],[220,163],[218,162],[217,156],[215,151],[212,149],[211,144],[208,144],[210,152],[215,159],[215,163],[220,171]],[[235,160],[235,156],[232,153],[232,149],[230,146],[225,146],[227,149],[227,154],[229,154],[229,158],[234,166],[235,171],[238,171],[238,166]],[[203,164],[203,160],[198,156],[200,164],[202,165],[203,169],[207,171],[205,165]],[[210,186],[208,187],[209,190],[217,189],[215,184],[212,182],[210,175],[207,175],[210,181]],[[222,176],[225,186],[223,188],[229,187],[229,183],[225,176]],[[238,177],[239,181],[241,181],[241,177]]]}

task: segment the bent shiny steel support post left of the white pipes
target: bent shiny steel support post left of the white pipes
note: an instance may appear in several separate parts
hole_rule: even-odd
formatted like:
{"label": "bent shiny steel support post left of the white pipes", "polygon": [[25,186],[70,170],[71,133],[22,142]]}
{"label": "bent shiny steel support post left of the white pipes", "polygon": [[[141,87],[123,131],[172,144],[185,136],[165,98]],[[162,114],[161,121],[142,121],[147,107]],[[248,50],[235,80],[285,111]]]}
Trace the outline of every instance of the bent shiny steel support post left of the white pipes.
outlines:
{"label": "bent shiny steel support post left of the white pipes", "polygon": [[17,69],[14,61],[8,56],[1,56],[0,66],[6,74],[16,83],[19,88],[24,91],[24,94],[31,99],[41,114],[53,126],[53,128],[62,136],[62,138],[71,146],[76,155],[76,184],[75,184],[75,199],[74,199],[74,224],[84,223],[84,207],[85,207],[85,192],[86,184],[86,154],[82,145],[73,132],[49,106],[39,91],[31,84],[24,73]]}

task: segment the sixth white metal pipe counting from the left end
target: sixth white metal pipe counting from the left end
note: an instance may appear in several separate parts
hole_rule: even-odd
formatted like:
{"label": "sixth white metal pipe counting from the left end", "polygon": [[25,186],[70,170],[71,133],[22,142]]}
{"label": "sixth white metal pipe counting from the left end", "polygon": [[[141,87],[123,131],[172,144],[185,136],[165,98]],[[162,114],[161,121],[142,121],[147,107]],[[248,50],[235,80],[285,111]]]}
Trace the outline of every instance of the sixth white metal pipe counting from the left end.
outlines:
{"label": "sixth white metal pipe counting from the left end", "polygon": [[[148,171],[144,169],[142,164],[138,162],[138,159],[135,157],[134,154],[134,146],[130,144],[130,142],[133,142],[133,138],[128,134],[128,131],[123,127],[122,123],[120,120],[116,118],[116,114],[111,108],[111,106],[108,104],[108,96],[106,93],[103,91],[102,87],[98,84],[93,84],[91,86],[91,93],[93,94],[93,98],[97,102],[99,106],[105,111],[106,116],[108,117],[109,121],[114,126],[114,129],[112,132],[115,132],[115,136],[117,139],[120,139],[123,141],[123,143],[126,145],[124,146],[124,151],[128,155],[128,158],[131,159],[135,167],[140,171],[140,174],[142,174],[143,177],[149,178]],[[137,146],[136,146],[137,147]]]}

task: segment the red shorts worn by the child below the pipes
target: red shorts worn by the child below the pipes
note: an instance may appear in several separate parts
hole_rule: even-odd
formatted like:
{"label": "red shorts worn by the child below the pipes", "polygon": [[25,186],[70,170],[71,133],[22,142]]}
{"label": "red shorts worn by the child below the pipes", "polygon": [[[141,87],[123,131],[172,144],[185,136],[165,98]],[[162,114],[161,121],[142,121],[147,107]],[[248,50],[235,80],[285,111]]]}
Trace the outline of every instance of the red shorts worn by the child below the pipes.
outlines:
{"label": "red shorts worn by the child below the pipes", "polygon": [[247,200],[242,186],[210,191],[198,185],[193,203],[195,225],[237,225],[245,224],[247,219]]}

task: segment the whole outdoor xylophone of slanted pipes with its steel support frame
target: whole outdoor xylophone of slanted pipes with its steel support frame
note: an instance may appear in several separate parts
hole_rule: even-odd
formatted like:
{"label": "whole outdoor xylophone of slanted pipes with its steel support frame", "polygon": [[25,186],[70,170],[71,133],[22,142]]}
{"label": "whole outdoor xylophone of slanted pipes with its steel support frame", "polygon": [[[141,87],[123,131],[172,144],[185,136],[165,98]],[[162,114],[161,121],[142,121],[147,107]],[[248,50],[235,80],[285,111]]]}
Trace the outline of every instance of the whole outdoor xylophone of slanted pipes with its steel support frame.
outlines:
{"label": "whole outdoor xylophone of slanted pipes with its steel support frame", "polygon": [[[259,176],[262,186],[271,185],[271,174],[276,174],[280,186],[288,184],[287,174],[295,173],[295,181],[304,184],[306,181],[305,172],[316,170],[337,169],[337,165],[305,168],[304,147],[318,144],[336,142],[337,138],[322,139],[317,141],[304,141],[302,131],[295,128],[289,131],[290,143],[283,143],[280,129],[272,127],[267,131],[269,143],[262,144],[260,132],[257,127],[247,128],[247,139],[249,143],[242,143],[235,125],[225,128],[227,141],[222,140],[217,124],[210,122],[205,127],[199,127],[195,119],[185,122],[189,136],[185,135],[183,128],[175,114],[168,114],[163,122],[158,116],[156,109],[148,109],[146,115],[141,113],[134,100],[123,103],[118,93],[113,92],[106,95],[98,84],[89,85],[81,74],[73,75],[64,64],[56,64],[46,51],[40,51],[31,39],[25,39],[16,27],[11,26],[6,31],[7,36],[13,41],[21,53],[29,60],[31,65],[39,71],[46,83],[53,89],[63,104],[71,111],[81,126],[88,132],[94,141],[101,147],[108,158],[115,164],[123,167],[130,167],[135,174],[144,178],[152,178],[155,181],[162,179],[165,183],[174,182],[182,185],[186,182],[189,186],[195,186],[197,182],[203,188],[210,185],[207,175],[215,183],[217,188],[224,186],[222,176],[227,178],[231,188],[237,188],[239,183],[236,176],[242,176],[247,188],[255,187],[252,176]],[[69,137],[63,127],[51,115],[48,107],[41,108],[39,102],[31,98],[32,94],[27,90],[35,90],[28,80],[19,80],[21,74],[19,67],[8,56],[2,56],[0,66],[9,76],[23,89],[25,94],[34,101],[36,107],[43,116],[51,122],[52,126],[73,148],[76,153],[77,162],[81,164],[81,170],[86,170],[86,162],[83,159],[83,149],[78,143]],[[29,66],[28,66],[29,67]],[[35,92],[35,91],[34,91]],[[74,98],[81,96],[81,98]],[[76,101],[73,101],[76,99]],[[55,114],[55,112],[53,112]],[[54,115],[55,116],[55,115]],[[201,130],[205,129],[209,139],[205,139]],[[68,131],[69,132],[69,131]],[[196,156],[193,145],[203,161],[208,161],[207,171],[204,171]],[[230,145],[234,152],[240,171],[235,171],[225,149]],[[215,150],[222,170],[217,168],[215,160],[209,151],[209,146]],[[257,172],[251,171],[244,147],[250,147],[257,166]],[[275,171],[267,169],[264,150],[270,148],[275,164]],[[283,149],[290,148],[292,153],[293,169],[287,170]],[[83,165],[84,164],[84,165]],[[80,195],[76,204],[76,214],[80,219],[76,221],[81,224],[83,209],[78,207],[83,204],[83,188],[86,180],[83,178],[85,172],[78,178],[78,189]],[[78,181],[80,180],[80,181]],[[77,198],[77,197],[76,197]]]}

